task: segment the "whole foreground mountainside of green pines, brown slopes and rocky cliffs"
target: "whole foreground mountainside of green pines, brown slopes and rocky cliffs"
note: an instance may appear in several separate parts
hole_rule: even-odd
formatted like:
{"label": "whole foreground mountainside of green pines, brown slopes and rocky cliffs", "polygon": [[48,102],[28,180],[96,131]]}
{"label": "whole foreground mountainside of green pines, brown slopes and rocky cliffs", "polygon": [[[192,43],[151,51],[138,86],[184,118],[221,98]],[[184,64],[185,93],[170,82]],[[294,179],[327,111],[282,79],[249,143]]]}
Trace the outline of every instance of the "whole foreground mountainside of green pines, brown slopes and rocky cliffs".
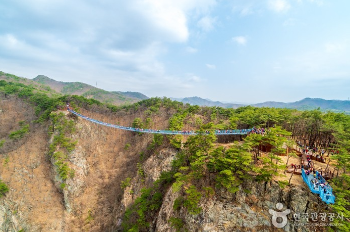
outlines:
{"label": "whole foreground mountainside of green pines, brown slopes and rocky cliffs", "polygon": [[[4,231],[277,231],[268,213],[277,202],[293,213],[344,216],[332,220],[343,226],[298,227],[290,214],[284,231],[349,231],[349,115],[199,107],[168,98],[114,106],[40,86],[0,80]],[[67,102],[106,123],[206,132],[117,130],[57,110]],[[251,127],[266,133],[207,133]],[[300,176],[285,173],[288,159],[299,159],[280,156],[283,146],[296,143],[325,150],[325,165],[334,170],[334,205],[312,194]],[[272,145],[270,152],[258,151],[264,144]]]}

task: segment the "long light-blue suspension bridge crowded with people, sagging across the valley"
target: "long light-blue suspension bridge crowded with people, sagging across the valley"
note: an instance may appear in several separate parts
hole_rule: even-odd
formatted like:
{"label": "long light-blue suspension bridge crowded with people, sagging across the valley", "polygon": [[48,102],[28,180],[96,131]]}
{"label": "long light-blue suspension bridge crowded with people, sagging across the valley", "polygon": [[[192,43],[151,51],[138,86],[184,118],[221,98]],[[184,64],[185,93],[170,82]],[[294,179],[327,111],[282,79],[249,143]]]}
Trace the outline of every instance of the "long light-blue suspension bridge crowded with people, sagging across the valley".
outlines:
{"label": "long light-blue suspension bridge crowded with people, sagging across the valley", "polygon": [[[134,132],[140,132],[140,133],[153,133],[153,134],[183,134],[183,135],[197,135],[197,134],[209,134],[211,132],[209,131],[194,131],[194,130],[154,130],[154,129],[142,129],[142,128],[135,128],[135,127],[129,127],[129,126],[120,126],[120,125],[114,125],[111,123],[102,122],[96,119],[92,119],[89,117],[86,117],[82,114],[79,114],[78,112],[75,112],[74,110],[68,108],[69,112],[71,112],[74,115],[77,115],[78,117],[81,117],[85,120],[88,120],[90,122],[94,122],[103,126],[113,127],[117,129],[122,130],[129,130]],[[227,129],[227,130],[214,130],[215,135],[229,135],[229,134],[249,134],[250,132],[254,131],[254,128],[250,129]]]}

